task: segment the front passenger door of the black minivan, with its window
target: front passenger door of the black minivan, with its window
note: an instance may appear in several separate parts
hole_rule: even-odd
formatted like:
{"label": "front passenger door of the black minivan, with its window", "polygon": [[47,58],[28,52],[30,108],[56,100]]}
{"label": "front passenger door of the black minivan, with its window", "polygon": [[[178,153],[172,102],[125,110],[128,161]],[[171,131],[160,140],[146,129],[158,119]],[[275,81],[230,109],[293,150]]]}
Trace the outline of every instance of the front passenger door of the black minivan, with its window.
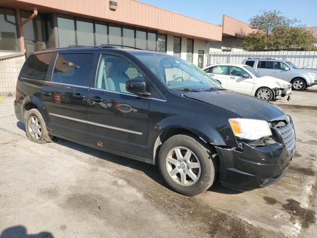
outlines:
{"label": "front passenger door of the black minivan, with its window", "polygon": [[96,82],[88,93],[89,140],[94,145],[144,157],[150,99],[127,92],[125,83],[130,79],[145,80],[145,75],[124,56],[100,55]]}

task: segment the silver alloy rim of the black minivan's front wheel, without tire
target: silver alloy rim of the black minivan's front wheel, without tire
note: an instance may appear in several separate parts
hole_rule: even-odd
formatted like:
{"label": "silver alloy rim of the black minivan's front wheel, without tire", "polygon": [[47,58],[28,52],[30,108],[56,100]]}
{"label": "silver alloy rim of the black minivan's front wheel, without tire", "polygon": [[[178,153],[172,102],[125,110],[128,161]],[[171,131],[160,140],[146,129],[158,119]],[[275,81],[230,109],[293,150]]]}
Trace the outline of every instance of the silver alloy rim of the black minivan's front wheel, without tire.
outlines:
{"label": "silver alloy rim of the black minivan's front wheel, without tire", "polygon": [[174,147],[166,157],[168,175],[178,184],[189,186],[200,177],[201,166],[197,156],[186,147]]}

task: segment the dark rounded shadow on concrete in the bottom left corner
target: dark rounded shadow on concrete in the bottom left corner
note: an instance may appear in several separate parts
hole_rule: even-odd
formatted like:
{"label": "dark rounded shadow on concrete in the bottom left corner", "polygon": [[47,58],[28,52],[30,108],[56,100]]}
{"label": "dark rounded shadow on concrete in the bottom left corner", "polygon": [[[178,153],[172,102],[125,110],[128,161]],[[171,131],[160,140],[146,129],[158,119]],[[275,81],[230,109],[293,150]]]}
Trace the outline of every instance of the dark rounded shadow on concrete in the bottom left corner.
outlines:
{"label": "dark rounded shadow on concrete in the bottom left corner", "polygon": [[0,238],[53,238],[53,235],[49,232],[28,235],[25,227],[15,226],[5,229],[0,234]]}

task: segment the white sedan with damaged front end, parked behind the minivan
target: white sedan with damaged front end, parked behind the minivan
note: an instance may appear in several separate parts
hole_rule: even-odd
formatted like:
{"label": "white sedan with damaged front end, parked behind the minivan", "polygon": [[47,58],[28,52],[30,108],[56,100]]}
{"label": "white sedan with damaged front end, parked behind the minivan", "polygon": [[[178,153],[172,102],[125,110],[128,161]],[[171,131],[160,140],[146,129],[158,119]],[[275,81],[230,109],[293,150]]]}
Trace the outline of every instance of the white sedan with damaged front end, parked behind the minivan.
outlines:
{"label": "white sedan with damaged front end, parked behind the minivan", "polygon": [[223,88],[256,96],[271,101],[277,96],[288,96],[290,100],[292,84],[282,79],[264,76],[246,64],[214,64],[204,68]]}

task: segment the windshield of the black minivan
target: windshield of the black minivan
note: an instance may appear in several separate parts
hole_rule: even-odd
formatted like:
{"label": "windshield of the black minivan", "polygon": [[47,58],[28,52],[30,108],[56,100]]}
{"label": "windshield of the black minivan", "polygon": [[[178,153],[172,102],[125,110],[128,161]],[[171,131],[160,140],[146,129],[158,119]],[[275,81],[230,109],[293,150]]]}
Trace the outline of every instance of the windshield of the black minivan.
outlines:
{"label": "windshield of the black minivan", "polygon": [[173,56],[155,53],[131,53],[171,90],[222,89],[208,73],[196,65]]}

